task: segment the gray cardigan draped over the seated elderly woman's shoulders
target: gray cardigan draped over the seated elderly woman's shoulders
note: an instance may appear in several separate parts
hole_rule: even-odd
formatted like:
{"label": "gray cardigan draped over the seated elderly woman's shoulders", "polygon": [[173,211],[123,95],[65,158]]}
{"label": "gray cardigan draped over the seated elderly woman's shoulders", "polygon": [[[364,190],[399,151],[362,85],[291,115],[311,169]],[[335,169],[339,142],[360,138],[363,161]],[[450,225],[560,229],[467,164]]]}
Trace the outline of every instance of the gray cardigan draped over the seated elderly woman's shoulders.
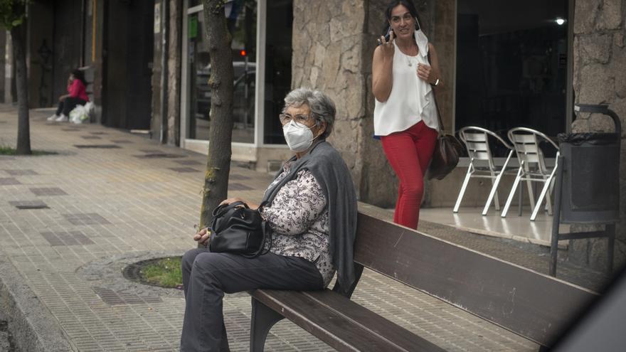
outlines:
{"label": "gray cardigan draped over the seated elderly woman's shoulders", "polygon": [[[354,239],[356,237],[356,193],[348,166],[328,142],[315,143],[300,159],[292,157],[289,174],[268,189],[263,202],[271,203],[276,193],[300,170],[311,171],[326,196],[329,214],[329,244],[332,264],[337,270],[341,294],[347,295],[354,283]],[[280,173],[279,173],[280,175]]]}

